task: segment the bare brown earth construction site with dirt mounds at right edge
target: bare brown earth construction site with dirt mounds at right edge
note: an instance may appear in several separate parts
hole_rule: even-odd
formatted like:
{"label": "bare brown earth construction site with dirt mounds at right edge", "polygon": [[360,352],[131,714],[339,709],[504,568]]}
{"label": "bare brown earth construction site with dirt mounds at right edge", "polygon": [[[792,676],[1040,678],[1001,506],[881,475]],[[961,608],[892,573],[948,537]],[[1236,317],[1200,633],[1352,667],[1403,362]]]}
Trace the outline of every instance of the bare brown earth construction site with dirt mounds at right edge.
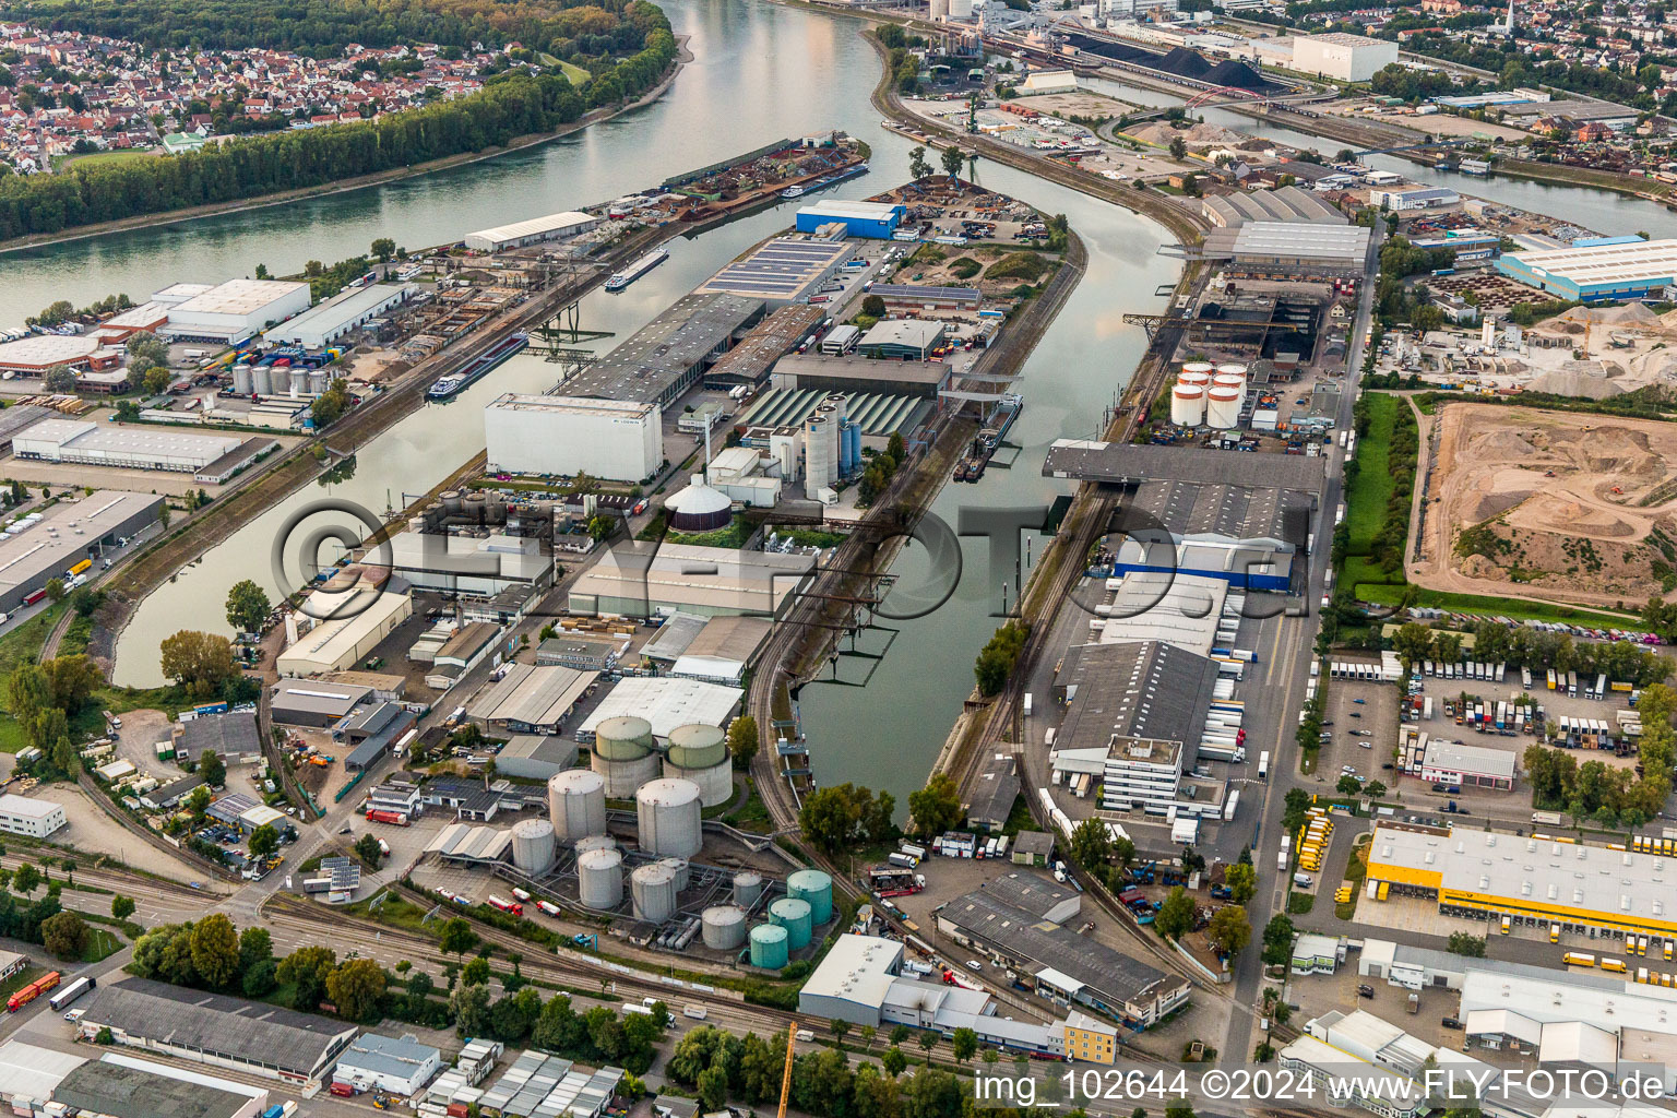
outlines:
{"label": "bare brown earth construction site with dirt mounds at right edge", "polygon": [[1422,443],[1410,582],[1643,602],[1677,567],[1674,424],[1459,402]]}

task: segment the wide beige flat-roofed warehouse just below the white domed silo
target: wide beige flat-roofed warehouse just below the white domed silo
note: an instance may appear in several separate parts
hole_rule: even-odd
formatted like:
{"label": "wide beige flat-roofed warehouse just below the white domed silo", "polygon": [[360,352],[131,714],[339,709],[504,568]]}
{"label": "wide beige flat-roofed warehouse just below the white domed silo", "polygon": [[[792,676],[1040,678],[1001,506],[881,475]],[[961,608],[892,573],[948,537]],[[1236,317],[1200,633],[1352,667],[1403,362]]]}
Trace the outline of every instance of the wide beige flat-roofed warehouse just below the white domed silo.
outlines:
{"label": "wide beige flat-roofed warehouse just below the white domed silo", "polygon": [[813,577],[810,555],[664,543],[647,556],[607,548],[570,583],[572,613],[652,617],[672,610],[780,617]]}

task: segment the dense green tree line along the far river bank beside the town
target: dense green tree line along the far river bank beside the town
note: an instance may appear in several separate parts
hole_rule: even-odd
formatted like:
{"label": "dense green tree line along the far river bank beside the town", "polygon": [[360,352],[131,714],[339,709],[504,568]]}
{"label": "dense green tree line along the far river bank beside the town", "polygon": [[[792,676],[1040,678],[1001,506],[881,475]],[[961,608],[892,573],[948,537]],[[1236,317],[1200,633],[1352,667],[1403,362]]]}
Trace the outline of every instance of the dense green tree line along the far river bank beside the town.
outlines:
{"label": "dense green tree line along the far river bank beside the town", "polygon": [[627,13],[651,25],[646,47],[589,82],[587,97],[560,74],[503,74],[468,97],[377,121],[230,139],[164,159],[72,164],[62,174],[12,174],[0,178],[0,240],[304,189],[548,132],[590,107],[639,96],[669,69],[676,40],[664,13],[644,0]]}

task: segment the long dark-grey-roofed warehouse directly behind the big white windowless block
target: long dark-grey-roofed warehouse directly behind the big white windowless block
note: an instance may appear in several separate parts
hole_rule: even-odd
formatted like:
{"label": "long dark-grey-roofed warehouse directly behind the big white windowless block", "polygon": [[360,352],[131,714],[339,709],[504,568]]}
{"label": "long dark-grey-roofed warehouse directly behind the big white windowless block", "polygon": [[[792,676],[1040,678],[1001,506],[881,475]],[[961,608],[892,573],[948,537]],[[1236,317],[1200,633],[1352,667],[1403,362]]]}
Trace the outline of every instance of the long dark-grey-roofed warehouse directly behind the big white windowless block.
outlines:
{"label": "long dark-grey-roofed warehouse directly behind the big white windowless block", "polygon": [[617,349],[565,380],[565,391],[667,407],[733,347],[735,334],[755,327],[763,312],[761,298],[683,295]]}

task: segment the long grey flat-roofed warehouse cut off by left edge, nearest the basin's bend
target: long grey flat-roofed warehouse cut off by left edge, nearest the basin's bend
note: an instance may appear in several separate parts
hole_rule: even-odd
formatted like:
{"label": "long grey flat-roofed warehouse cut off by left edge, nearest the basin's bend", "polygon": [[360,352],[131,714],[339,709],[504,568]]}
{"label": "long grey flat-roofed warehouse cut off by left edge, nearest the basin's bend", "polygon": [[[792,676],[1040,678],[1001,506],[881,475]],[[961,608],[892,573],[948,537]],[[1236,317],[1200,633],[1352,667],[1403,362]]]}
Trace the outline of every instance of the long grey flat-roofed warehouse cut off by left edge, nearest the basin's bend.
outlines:
{"label": "long grey flat-roofed warehouse cut off by left edge, nearest the basin's bend", "polygon": [[0,538],[0,610],[10,613],[54,578],[67,578],[72,567],[101,555],[106,545],[151,528],[163,498],[151,493],[99,489],[79,501],[60,499],[42,510],[40,520],[12,521],[10,538]]}

